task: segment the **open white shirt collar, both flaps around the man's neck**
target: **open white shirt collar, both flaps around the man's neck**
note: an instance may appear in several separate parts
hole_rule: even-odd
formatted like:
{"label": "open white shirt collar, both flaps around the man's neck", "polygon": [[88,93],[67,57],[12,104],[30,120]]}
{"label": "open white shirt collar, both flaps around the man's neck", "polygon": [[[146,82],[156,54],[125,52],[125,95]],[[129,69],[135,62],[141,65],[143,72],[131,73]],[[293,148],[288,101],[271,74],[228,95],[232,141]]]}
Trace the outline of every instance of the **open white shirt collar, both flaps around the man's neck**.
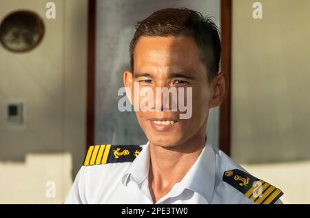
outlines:
{"label": "open white shirt collar, both flaps around the man's neck", "polygon": [[[132,162],[125,175],[123,175],[122,183],[127,186],[130,179],[133,179],[139,185],[148,177],[148,173],[149,142],[143,145],[143,150],[138,157],[136,157],[134,162]],[[204,197],[206,201],[210,202],[214,193],[215,177],[216,158],[214,149],[206,142],[203,151],[200,153],[192,168],[190,168],[185,177],[176,184],[178,186],[176,189],[178,190],[177,193],[171,194],[177,195],[183,190],[189,189],[198,193]]]}

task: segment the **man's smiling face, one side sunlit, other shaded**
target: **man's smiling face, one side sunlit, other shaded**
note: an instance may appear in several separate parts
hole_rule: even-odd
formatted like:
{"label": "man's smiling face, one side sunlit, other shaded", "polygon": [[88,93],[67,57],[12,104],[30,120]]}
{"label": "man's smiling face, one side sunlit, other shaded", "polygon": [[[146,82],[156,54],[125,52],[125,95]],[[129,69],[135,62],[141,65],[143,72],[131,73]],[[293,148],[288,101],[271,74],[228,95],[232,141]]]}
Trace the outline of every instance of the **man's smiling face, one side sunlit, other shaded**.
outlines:
{"label": "man's smiling face, one side sunlit, other shaded", "polygon": [[[156,107],[159,102],[163,105],[161,95],[161,98],[154,96],[153,111],[136,111],[138,123],[155,146],[177,146],[205,133],[213,89],[194,39],[185,36],[141,37],[134,50],[133,75],[127,72],[124,82],[132,90],[132,96],[139,100],[143,95],[134,91],[134,82],[138,83],[140,90],[149,87],[154,94],[156,87],[175,87],[177,90],[183,87],[185,105],[189,102],[187,98],[192,98],[192,116],[188,119],[180,119],[180,113],[185,112],[172,111],[171,105],[166,111],[164,107]],[[187,97],[187,88],[192,88],[192,96]]]}

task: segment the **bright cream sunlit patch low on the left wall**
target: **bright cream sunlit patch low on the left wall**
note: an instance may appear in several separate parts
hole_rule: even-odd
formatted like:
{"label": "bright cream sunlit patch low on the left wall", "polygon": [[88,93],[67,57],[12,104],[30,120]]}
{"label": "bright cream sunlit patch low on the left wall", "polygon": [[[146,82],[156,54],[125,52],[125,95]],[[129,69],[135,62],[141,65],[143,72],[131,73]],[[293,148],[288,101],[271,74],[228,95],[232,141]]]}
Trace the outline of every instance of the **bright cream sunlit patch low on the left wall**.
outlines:
{"label": "bright cream sunlit patch low on the left wall", "polygon": [[70,153],[28,154],[0,162],[0,204],[62,204],[72,186]]}

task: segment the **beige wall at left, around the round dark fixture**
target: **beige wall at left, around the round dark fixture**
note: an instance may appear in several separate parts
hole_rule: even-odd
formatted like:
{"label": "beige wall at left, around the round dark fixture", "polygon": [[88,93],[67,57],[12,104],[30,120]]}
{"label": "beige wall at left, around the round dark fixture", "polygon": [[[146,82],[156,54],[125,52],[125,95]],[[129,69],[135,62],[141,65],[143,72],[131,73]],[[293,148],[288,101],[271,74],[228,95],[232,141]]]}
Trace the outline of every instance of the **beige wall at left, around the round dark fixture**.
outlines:
{"label": "beige wall at left, around the round dark fixture", "polygon": [[[48,1],[1,0],[0,21],[13,10],[32,10],[45,25],[43,41],[30,52],[16,54],[0,45],[3,203],[61,203],[71,186],[71,176],[83,162],[87,1],[53,2],[56,19],[45,18]],[[10,127],[7,106],[16,100],[24,102],[25,122],[21,127]],[[49,180],[56,183],[56,198],[45,196]]]}

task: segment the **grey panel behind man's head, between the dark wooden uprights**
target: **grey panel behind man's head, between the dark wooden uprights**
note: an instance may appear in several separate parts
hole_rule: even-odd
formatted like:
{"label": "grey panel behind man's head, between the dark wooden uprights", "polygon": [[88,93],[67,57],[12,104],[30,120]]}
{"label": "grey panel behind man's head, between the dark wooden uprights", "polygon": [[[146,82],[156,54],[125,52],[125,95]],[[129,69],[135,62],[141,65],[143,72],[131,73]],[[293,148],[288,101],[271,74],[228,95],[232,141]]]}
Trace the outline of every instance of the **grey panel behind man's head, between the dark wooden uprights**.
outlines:
{"label": "grey panel behind man's head, between the dark wooden uprights", "polygon": [[[128,47],[136,21],[162,8],[192,8],[214,17],[219,27],[220,1],[97,1],[96,27],[96,144],[145,144],[134,112],[120,112],[117,91],[123,87],[123,72],[130,69]],[[208,141],[218,146],[218,109],[212,109],[208,122]]]}

